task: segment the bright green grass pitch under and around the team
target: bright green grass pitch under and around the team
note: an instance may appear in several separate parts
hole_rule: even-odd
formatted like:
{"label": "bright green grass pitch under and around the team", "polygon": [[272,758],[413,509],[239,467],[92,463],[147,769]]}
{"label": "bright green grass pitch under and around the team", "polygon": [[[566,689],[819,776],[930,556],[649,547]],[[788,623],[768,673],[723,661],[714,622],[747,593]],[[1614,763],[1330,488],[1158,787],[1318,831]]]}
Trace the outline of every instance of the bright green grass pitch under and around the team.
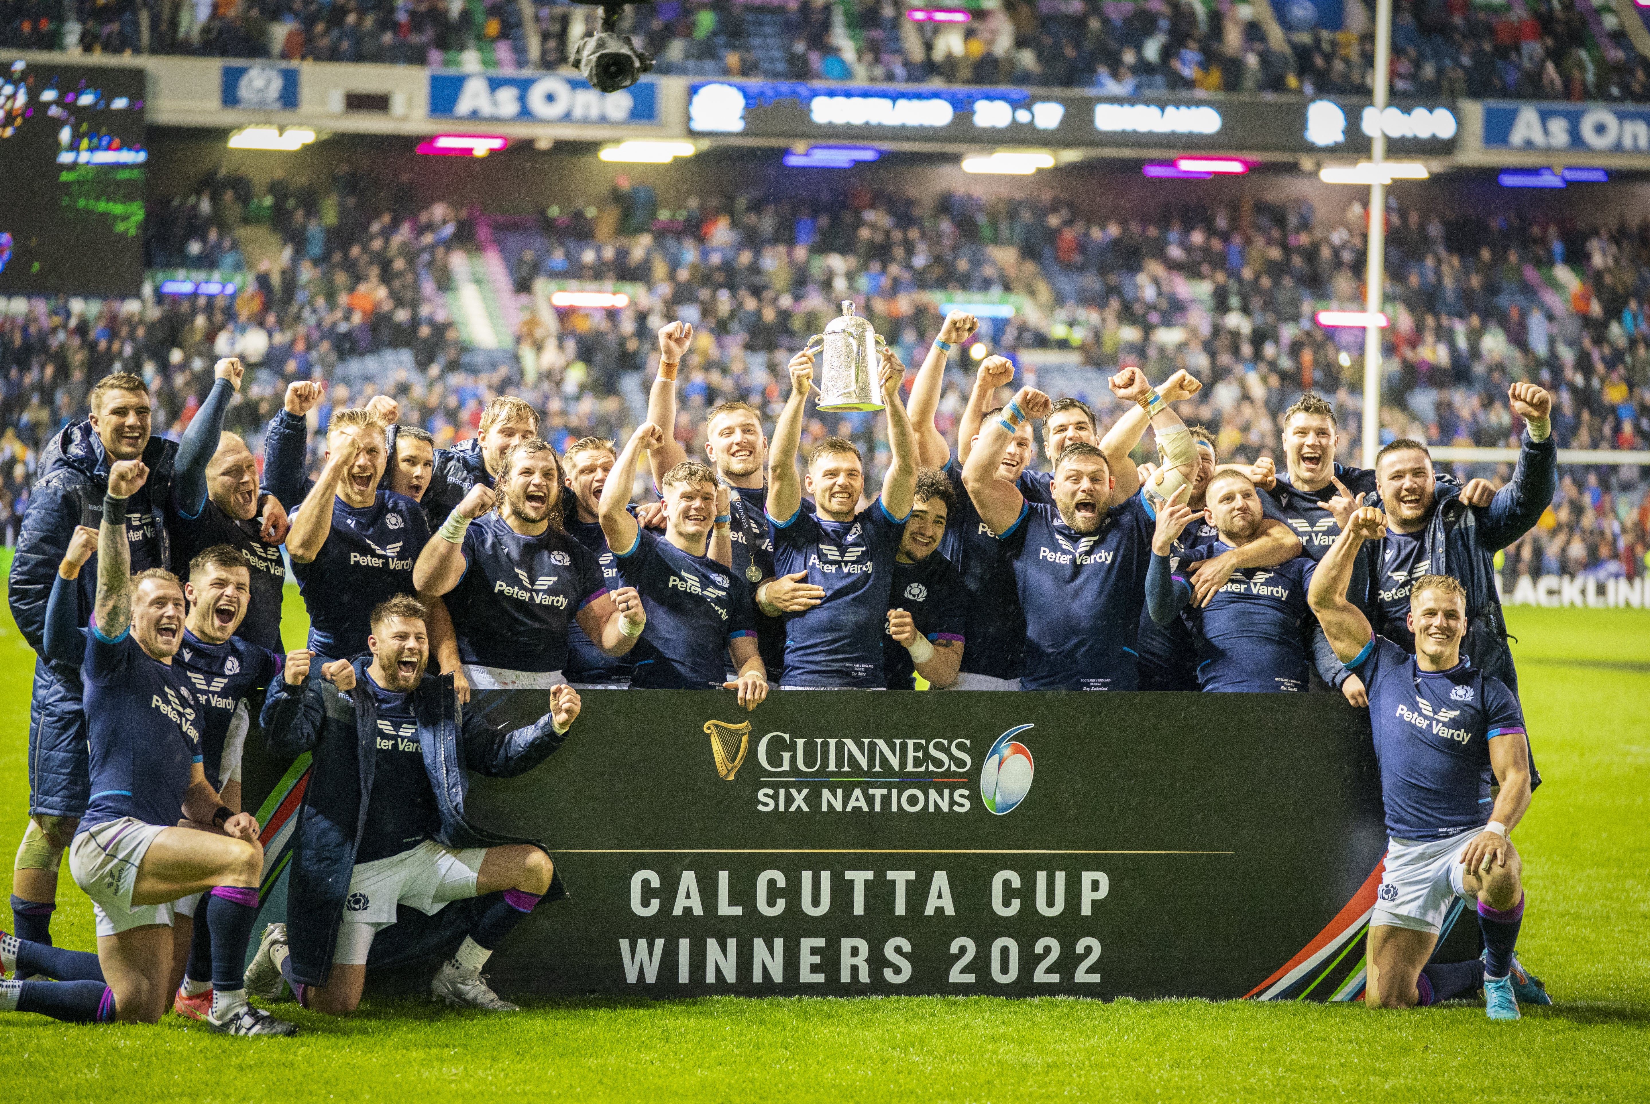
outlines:
{"label": "bright green grass pitch under and around the team", "polygon": [[[287,609],[302,611],[295,594]],[[535,1002],[512,1017],[282,1005],[295,1040],[0,1017],[0,1101],[1650,1099],[1650,612],[1513,609],[1546,784],[1520,828],[1520,955],[1558,1003],[1515,1025],[1424,1012],[1193,1000]],[[289,617],[289,639],[302,639]],[[26,809],[33,657],[0,617],[0,856]],[[10,913],[0,914],[8,922]],[[63,875],[58,942],[92,947]]]}

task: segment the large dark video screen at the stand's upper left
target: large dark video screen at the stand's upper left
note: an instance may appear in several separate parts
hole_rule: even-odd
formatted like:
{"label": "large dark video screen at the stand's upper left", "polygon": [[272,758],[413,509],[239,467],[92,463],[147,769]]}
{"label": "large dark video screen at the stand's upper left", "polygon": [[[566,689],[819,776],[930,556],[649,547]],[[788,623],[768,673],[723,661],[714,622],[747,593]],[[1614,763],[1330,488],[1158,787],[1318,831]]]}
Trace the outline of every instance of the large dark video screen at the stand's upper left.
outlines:
{"label": "large dark video screen at the stand's upper left", "polygon": [[144,71],[0,61],[0,295],[137,295]]}

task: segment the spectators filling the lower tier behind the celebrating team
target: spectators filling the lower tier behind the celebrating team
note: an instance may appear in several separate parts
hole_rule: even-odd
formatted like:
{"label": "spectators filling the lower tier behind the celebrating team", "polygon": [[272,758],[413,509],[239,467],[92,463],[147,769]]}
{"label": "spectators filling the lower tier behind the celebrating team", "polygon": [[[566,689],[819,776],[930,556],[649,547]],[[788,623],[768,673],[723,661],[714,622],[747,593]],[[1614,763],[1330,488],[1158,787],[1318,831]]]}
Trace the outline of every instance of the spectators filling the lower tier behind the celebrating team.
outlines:
{"label": "spectators filling the lower tier behind the celebrating team", "polygon": [[[676,432],[686,439],[700,411],[731,398],[777,416],[784,360],[848,297],[912,368],[944,302],[1002,292],[1016,312],[990,320],[990,347],[1015,351],[1040,386],[1089,399],[1102,419],[1115,416],[1106,371],[1138,363],[1158,380],[1186,368],[1206,383],[1186,419],[1214,431],[1223,459],[1275,454],[1277,416],[1304,386],[1333,398],[1343,457],[1355,447],[1361,332],[1322,330],[1310,314],[1361,304],[1358,203],[1343,213],[1188,206],[1091,223],[1048,193],[926,203],[853,190],[846,200],[846,218],[838,201],[742,195],[660,210],[637,186],[536,221],[488,219],[523,292],[515,355],[488,358],[465,348],[447,295],[457,254],[465,266],[480,256],[478,216],[421,210],[406,180],[383,186],[350,167],[330,182],[277,173],[262,195],[218,170],[150,211],[147,249],[160,267],[228,267],[238,219],[257,211],[284,248],[234,299],[160,297],[139,312],[111,300],[82,314],[41,300],[18,314],[13,300],[0,323],[0,510],[15,517],[45,439],[82,409],[89,381],[117,368],[153,380],[157,426],[177,432],[211,360],[241,355],[257,371],[229,427],[254,449],[292,378],[328,380],[328,409],[389,391],[406,421],[442,442],[472,436],[490,394],[520,393],[544,411],[559,447],[586,434],[622,437],[639,421],[652,332],[685,318],[696,327],[681,371]],[[1650,223],[1587,228],[1393,200],[1388,241],[1398,309],[1383,436],[1505,446],[1506,386],[1534,380],[1556,394],[1561,446],[1650,447]],[[540,297],[535,307],[540,277],[627,282],[634,302],[568,312]],[[969,371],[964,360],[949,380],[947,432]],[[873,475],[884,465],[874,418],[815,418],[807,431],[828,432],[856,437]],[[1520,563],[1642,573],[1650,500],[1640,470],[1566,472],[1553,512],[1516,550]]]}

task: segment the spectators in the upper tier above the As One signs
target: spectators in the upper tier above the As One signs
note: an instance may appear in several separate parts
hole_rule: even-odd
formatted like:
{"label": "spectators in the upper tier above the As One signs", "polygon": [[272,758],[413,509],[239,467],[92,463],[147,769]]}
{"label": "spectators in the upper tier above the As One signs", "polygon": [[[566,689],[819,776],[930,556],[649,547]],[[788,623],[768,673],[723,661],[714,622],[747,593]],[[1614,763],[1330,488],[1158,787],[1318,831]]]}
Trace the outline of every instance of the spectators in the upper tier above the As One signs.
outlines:
{"label": "spectators in the upper tier above the As One signs", "polygon": [[[1269,33],[1244,5],[1008,0],[969,23],[912,21],[908,7],[917,5],[658,0],[627,18],[639,45],[658,54],[660,73],[690,76],[1315,96],[1368,92],[1374,56],[1368,28],[1302,31],[1274,21]],[[502,69],[535,68],[530,40],[538,40],[536,68],[564,64],[594,28],[594,8],[571,0],[76,0],[69,21],[41,0],[7,8],[3,46]],[[1399,0],[1393,92],[1643,102],[1650,61],[1607,5],[1538,0],[1485,10]]]}

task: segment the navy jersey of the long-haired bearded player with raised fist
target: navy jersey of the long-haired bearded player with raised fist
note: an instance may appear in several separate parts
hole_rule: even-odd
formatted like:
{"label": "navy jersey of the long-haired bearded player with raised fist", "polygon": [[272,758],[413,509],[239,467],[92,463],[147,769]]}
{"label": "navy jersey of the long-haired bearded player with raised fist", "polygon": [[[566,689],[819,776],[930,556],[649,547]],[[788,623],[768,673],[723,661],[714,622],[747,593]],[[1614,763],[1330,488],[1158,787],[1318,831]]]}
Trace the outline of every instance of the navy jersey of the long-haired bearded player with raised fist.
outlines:
{"label": "navy jersey of the long-haired bearded player with raised fist", "polygon": [[459,658],[564,673],[569,629],[581,609],[607,592],[591,550],[554,526],[523,536],[488,512],[464,531],[462,553],[464,576],[446,597]]}

